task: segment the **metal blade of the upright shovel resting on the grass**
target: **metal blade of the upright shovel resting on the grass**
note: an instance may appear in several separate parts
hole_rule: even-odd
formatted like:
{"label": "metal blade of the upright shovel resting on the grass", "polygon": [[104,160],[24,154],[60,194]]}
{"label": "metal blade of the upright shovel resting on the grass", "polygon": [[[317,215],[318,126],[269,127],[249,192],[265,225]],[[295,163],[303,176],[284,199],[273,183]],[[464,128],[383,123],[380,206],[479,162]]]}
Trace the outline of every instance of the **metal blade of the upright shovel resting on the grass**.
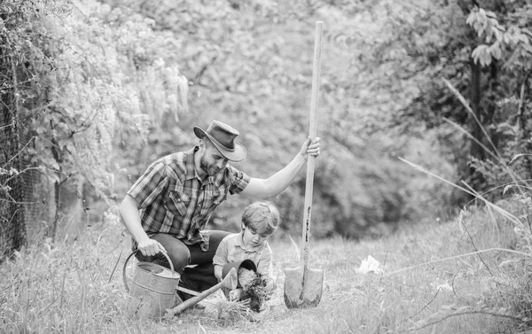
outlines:
{"label": "metal blade of the upright shovel resting on the grass", "polygon": [[322,269],[286,268],[285,305],[288,308],[317,307],[322,295],[324,271]]}

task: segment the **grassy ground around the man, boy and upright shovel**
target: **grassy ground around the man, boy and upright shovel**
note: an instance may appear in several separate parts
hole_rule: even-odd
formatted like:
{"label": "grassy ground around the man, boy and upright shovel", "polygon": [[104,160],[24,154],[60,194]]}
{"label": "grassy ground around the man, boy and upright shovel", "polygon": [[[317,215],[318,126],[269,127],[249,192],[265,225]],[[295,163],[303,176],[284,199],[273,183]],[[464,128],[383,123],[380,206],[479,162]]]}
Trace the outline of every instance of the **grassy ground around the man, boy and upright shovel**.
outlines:
{"label": "grassy ground around the man, boy and upright shovel", "polygon": [[[488,209],[456,221],[419,222],[379,240],[311,241],[325,280],[316,308],[289,310],[290,241],[272,243],[278,290],[261,322],[218,319],[221,291],[162,322],[129,319],[121,266],[129,236],[93,226],[72,245],[40,245],[0,267],[2,333],[505,333],[525,332],[532,310],[527,236]],[[518,233],[519,232],[519,233]],[[371,256],[377,272],[364,273]],[[116,266],[116,267],[115,267]]]}

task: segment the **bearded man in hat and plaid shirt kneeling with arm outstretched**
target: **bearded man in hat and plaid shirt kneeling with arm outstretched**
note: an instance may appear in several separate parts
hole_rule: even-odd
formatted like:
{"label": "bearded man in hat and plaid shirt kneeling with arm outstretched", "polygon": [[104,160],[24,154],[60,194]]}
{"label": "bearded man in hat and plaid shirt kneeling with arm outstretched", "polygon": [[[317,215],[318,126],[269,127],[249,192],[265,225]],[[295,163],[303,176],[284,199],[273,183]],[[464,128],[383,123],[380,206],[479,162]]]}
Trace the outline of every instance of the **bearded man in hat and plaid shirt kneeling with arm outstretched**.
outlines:
{"label": "bearded man in hat and plaid shirt kneeling with arm outstretched", "polygon": [[[148,167],[121,202],[120,214],[134,239],[133,248],[140,251],[138,260],[158,261],[168,267],[159,254],[167,252],[181,275],[180,285],[204,291],[217,283],[213,257],[229,234],[204,229],[216,206],[228,194],[277,196],[292,183],[309,155],[319,155],[319,138],[314,143],[308,138],[286,167],[261,179],[228,165],[246,157],[244,146],[235,142],[239,136],[236,129],[214,120],[207,131],[194,127],[194,134],[200,138],[197,146]],[[181,297],[188,296],[181,293]]]}

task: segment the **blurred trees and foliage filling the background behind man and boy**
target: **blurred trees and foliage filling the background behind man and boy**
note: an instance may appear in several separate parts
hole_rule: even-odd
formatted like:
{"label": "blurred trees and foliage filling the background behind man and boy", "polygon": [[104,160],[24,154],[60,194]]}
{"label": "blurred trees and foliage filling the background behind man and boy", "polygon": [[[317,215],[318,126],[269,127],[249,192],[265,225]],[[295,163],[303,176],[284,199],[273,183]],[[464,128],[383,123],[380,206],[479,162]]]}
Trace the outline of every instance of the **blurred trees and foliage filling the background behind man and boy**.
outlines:
{"label": "blurred trees and foliage filling the background behind man and boy", "polygon": [[[2,160],[4,203],[6,180],[31,172],[30,239],[116,221],[145,167],[192,147],[192,127],[213,119],[241,133],[248,157],[236,167],[271,175],[308,136],[322,20],[313,234],[449,219],[471,198],[397,158],[485,191],[512,181],[502,166],[524,154],[510,167],[530,178],[531,14],[524,0],[6,0],[0,93],[25,167]],[[272,198],[293,236],[303,192],[301,173]],[[230,198],[213,226],[238,229],[248,201]]]}

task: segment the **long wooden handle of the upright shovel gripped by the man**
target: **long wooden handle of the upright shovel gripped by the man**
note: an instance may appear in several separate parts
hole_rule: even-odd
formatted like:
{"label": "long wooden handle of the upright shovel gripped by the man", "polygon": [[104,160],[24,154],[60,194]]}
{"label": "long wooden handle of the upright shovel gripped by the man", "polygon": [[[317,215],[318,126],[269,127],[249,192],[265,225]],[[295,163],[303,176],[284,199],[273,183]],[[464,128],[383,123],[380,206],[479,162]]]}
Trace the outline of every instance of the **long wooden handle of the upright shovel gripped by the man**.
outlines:
{"label": "long wooden handle of the upright shovel gripped by the man", "polygon": [[[322,30],[324,23],[316,22],[316,35],[314,38],[314,65],[312,67],[312,94],[310,97],[310,130],[309,136],[311,140],[317,137],[317,105],[319,97],[319,74],[321,67],[321,41]],[[314,166],[315,157],[309,156],[307,161],[307,178],[305,187],[305,211],[303,213],[303,229],[302,229],[302,260],[304,268],[307,268],[309,263],[309,231],[310,221],[312,215],[312,191],[314,188]]]}

